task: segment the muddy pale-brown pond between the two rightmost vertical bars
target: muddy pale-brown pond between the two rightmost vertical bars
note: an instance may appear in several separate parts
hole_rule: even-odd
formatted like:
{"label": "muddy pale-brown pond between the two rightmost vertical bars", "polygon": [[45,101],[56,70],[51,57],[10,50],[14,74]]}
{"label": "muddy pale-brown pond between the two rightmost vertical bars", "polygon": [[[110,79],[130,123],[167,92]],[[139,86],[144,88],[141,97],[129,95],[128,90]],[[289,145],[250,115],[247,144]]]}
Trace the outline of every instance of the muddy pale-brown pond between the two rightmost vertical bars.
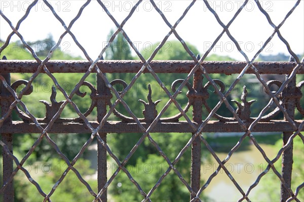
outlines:
{"label": "muddy pale-brown pond between the two rightmost vertical bars", "polygon": [[[260,147],[264,150],[264,152],[270,159],[273,159],[278,151],[274,149],[274,146],[272,144],[274,144],[276,142],[275,140],[279,139],[281,136],[276,134],[258,135],[259,136],[257,137],[257,140],[260,140],[258,141]],[[214,143],[213,148],[220,160],[225,159],[229,150],[233,148],[234,145],[231,144],[233,142],[232,139],[235,140],[235,145],[239,137],[230,137],[229,140],[227,140],[226,136],[218,137],[217,140],[219,142],[217,141],[216,144]],[[244,141],[244,144],[241,145],[241,147],[231,156],[229,161],[227,161],[227,163],[225,164],[227,170],[231,173],[233,178],[236,180],[236,182],[240,185],[240,187],[245,193],[247,192],[247,189],[250,187],[250,185],[252,185],[256,181],[257,176],[261,172],[263,172],[268,166],[262,154],[253,145],[251,140],[249,140],[249,138],[247,140],[246,139]],[[261,141],[263,139],[264,141]],[[267,142],[268,144],[265,144],[265,142]],[[210,144],[212,145],[213,142],[211,141]],[[202,163],[201,178],[204,182],[207,181],[209,176],[218,167],[218,163],[216,162],[216,160],[212,156],[210,158],[211,159],[209,159],[209,161],[205,161]],[[280,171],[281,169],[278,168],[278,170]],[[273,172],[270,171],[267,175],[273,175]],[[267,180],[267,175],[261,179],[260,184],[263,180]],[[258,184],[257,187],[253,188],[250,192],[249,198],[251,200],[258,200],[260,199],[258,197],[259,195],[267,194],[261,193],[262,190],[260,188],[260,184]],[[276,182],[276,184],[279,190],[279,181]],[[208,196],[211,201],[238,201],[240,198],[242,198],[242,194],[240,193],[240,191],[236,188],[232,180],[224,173],[222,169],[220,170],[218,175],[212,179],[209,186],[204,190],[204,194]]]}

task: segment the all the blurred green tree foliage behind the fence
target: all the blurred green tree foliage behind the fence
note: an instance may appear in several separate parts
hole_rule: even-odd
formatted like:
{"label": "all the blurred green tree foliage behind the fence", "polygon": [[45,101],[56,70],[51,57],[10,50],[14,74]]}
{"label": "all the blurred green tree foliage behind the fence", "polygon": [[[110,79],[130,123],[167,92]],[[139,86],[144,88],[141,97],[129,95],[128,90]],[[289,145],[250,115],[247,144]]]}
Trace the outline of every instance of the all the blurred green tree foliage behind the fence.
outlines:
{"label": "all the blurred green tree foliage behind the fence", "polygon": [[[108,37],[113,34],[111,30]],[[3,43],[2,43],[3,44]],[[1,45],[2,45],[1,44]],[[53,37],[49,35],[46,39],[41,41],[37,41],[34,43],[29,43],[31,47],[35,50],[37,56],[40,59],[44,59],[47,57],[50,49],[56,44]],[[194,45],[186,43],[187,47],[193,52],[196,56],[199,54],[199,51]],[[159,46],[159,44],[154,44],[150,47],[149,50],[143,49],[140,50],[143,57],[148,59],[153,51]],[[20,41],[12,42],[2,53],[1,57],[6,55],[8,59],[33,59],[33,56],[27,51]],[[119,33],[115,40],[111,43],[109,48],[105,52],[105,59],[107,60],[133,60],[136,57],[132,55],[131,47],[128,42],[124,38],[124,36]],[[80,57],[73,57],[68,53],[63,52],[58,49],[54,52],[51,59],[61,59],[61,60],[70,60],[70,59],[81,59]],[[187,53],[183,47],[183,45],[179,41],[169,41],[164,44],[164,46],[158,51],[154,60],[193,60],[191,55]],[[213,61],[221,61],[221,60],[234,60],[228,56],[217,56],[217,55],[209,55],[206,60]],[[79,82],[83,74],[72,74],[65,73],[53,74],[58,80],[59,84],[62,88],[70,93],[74,86]],[[26,79],[28,80],[32,74],[21,74],[17,73],[12,75],[12,82],[17,79]],[[112,73],[106,74],[108,80],[112,81],[114,79],[123,79],[127,84],[131,82],[135,73]],[[171,89],[171,84],[176,79],[184,79],[187,74],[181,73],[172,73],[170,76],[168,74],[157,74],[157,76],[162,80],[163,84],[166,86],[168,91],[173,94]],[[227,76],[223,74],[212,74],[210,75],[212,79],[220,79],[227,87],[230,87],[232,82],[235,80],[236,76]],[[256,79],[254,75],[246,75],[244,79]],[[96,86],[96,74],[90,74],[86,78],[87,82],[92,83]],[[189,80],[189,83],[192,84],[193,79]],[[207,80],[204,78],[204,84],[206,84]],[[244,80],[240,81],[240,84],[244,82]],[[34,92],[31,95],[25,95],[22,97],[22,101],[28,107],[28,110],[36,117],[43,118],[45,116],[46,108],[42,103],[39,103],[40,100],[50,101],[51,95],[51,87],[54,85],[53,80],[46,74],[40,74],[34,79]],[[150,84],[152,88],[152,99],[153,101],[161,99],[162,101],[157,106],[157,111],[160,112],[165,104],[169,101],[168,95],[161,88],[156,78],[153,75],[146,73],[141,74],[133,88],[130,89],[125,97],[124,101],[130,107],[132,113],[134,113],[137,117],[143,118],[142,110],[144,106],[138,102],[137,99],[142,99],[147,101],[148,94],[148,84]],[[243,83],[242,83],[243,85]],[[248,85],[248,83],[247,83]],[[24,86],[22,86],[23,88]],[[240,100],[241,90],[243,86],[237,86],[235,90],[227,97],[228,100],[236,99]],[[22,90],[22,88],[17,90],[17,93]],[[120,85],[115,85],[115,88],[118,91],[122,91],[122,87]],[[84,98],[81,98],[77,95],[74,95],[72,100],[75,102],[79,109],[82,112],[85,112],[87,108],[91,104],[90,91],[87,87],[81,87],[81,92],[87,92],[87,95]],[[185,107],[188,99],[186,97],[186,92],[188,89],[184,87],[182,89],[182,93],[177,96],[177,102],[183,108]],[[218,101],[220,100],[219,96],[213,93],[214,89],[210,87],[208,92],[210,94],[210,98],[208,100],[208,104],[211,108],[213,108]],[[249,95],[248,100],[251,98],[258,97],[261,100],[261,103],[265,103],[265,100],[269,100],[267,96],[264,96],[261,93],[260,88],[251,88],[248,89]],[[252,96],[254,95],[254,96]],[[134,100],[136,98],[136,100]],[[64,96],[57,89],[57,97],[56,100],[59,102],[61,100],[65,100]],[[115,102],[117,98],[113,96],[111,102]],[[39,104],[37,104],[39,103]],[[234,106],[234,105],[232,105]],[[255,105],[255,106],[258,106]],[[19,107],[21,108],[21,107]],[[122,104],[119,104],[116,109],[123,113],[124,115],[130,116],[127,110]],[[260,111],[259,107],[253,107],[252,116],[258,115]],[[171,104],[169,108],[165,111],[162,117],[169,117],[179,113],[178,109],[174,104]],[[222,106],[218,109],[217,113],[225,116],[232,116],[231,112],[227,110],[226,106],[222,104]],[[206,109],[203,108],[203,119],[207,117],[209,113]],[[97,112],[93,110],[90,116],[88,116],[89,120],[96,119]],[[192,119],[192,108],[186,113],[186,115]],[[61,117],[77,117],[77,113],[75,113],[73,107],[68,104],[63,110]],[[13,114],[14,119],[18,119],[17,115]],[[119,120],[115,115],[111,114],[109,119]],[[184,117],[181,117],[180,120],[185,120]],[[138,133],[132,134],[109,134],[107,136],[107,143],[112,150],[112,152],[118,156],[118,158],[122,161],[128,153],[132,150],[134,145],[140,140],[143,133],[138,131]],[[176,133],[151,133],[149,134],[155,142],[160,146],[162,152],[165,153],[171,162],[174,161],[180,150],[187,144],[188,140],[191,138],[192,134],[176,134]],[[29,150],[29,148],[33,145],[33,143],[37,140],[39,134],[16,134],[14,135],[14,154],[21,159]],[[90,134],[50,134],[50,137],[55,141],[61,151],[67,156],[69,160],[73,159],[75,155],[79,152],[80,148],[83,144],[89,139]],[[299,138],[298,138],[299,139]],[[209,141],[209,140],[207,140]],[[210,140],[212,141],[212,140]],[[214,140],[215,141],[215,140]],[[279,144],[279,143],[278,143]],[[298,148],[298,140],[295,141],[295,146]],[[302,146],[302,144],[300,145]],[[276,147],[276,149],[278,149]],[[206,160],[209,158],[209,152],[206,152],[206,148],[202,151],[202,160]],[[300,150],[296,150],[297,154],[300,154]],[[64,161],[58,160],[60,158],[53,147],[47,142],[47,140],[43,140],[34,150],[33,154],[31,154],[30,158],[27,160],[28,164],[36,164],[36,163],[46,163],[49,162],[51,164],[51,168],[57,168],[58,165],[64,165]],[[86,157],[86,153],[83,156]],[[113,174],[118,166],[115,161],[108,156],[108,162],[111,165],[112,172],[108,171],[108,174]],[[57,166],[57,167],[56,167]],[[93,174],[93,170],[90,169],[90,164],[88,160],[80,159],[75,165],[77,169],[81,172],[83,177],[90,177]],[[183,154],[181,159],[175,165],[177,170],[180,172],[181,176],[186,180],[188,184],[190,184],[190,172],[191,172],[191,149],[188,148],[186,152]],[[126,166],[132,177],[139,183],[141,188],[148,193],[149,190],[157,183],[160,177],[164,172],[167,171],[169,165],[167,161],[160,155],[159,151],[156,147],[145,138],[141,145],[136,149],[135,153],[132,155],[130,159],[128,159],[128,164]],[[303,170],[302,164],[299,164],[299,161],[295,159],[294,164],[295,173],[298,173]],[[52,186],[57,182],[60,178],[63,170],[60,172],[56,172],[56,170],[52,170],[45,176],[35,176],[37,182],[42,185],[43,190],[48,192],[52,189]],[[53,201],[74,201],[76,198],[83,201],[92,200],[92,196],[88,193],[86,187],[80,183],[78,178],[70,171],[70,174],[64,179],[64,181],[59,185],[58,190],[55,191],[52,196]],[[24,175],[18,175],[16,177],[16,201],[24,201],[26,200],[40,200],[41,196],[37,192],[36,188],[31,185],[25,178]],[[89,180],[91,187],[96,188],[96,180]],[[202,182],[203,183],[203,182]],[[202,184],[201,183],[201,184]],[[299,184],[298,180],[293,182],[293,188],[296,184]],[[268,186],[268,185],[267,185]],[[140,201],[143,199],[143,196],[138,192],[136,186],[129,180],[127,175],[124,172],[120,172],[119,175],[113,180],[113,182],[109,185],[109,198],[115,199],[117,201]],[[294,190],[294,189],[293,189]],[[96,191],[96,190],[95,190]],[[275,193],[275,191],[274,191]],[[204,193],[203,193],[204,194]],[[204,200],[207,198],[204,195],[201,195],[201,198]],[[302,194],[302,193],[301,193]],[[302,195],[301,195],[302,197]],[[161,185],[156,189],[155,193],[151,196],[153,201],[188,201],[189,200],[189,192],[187,188],[182,184],[178,176],[171,171],[169,175],[167,175]],[[270,199],[277,200],[276,197],[270,196]]]}

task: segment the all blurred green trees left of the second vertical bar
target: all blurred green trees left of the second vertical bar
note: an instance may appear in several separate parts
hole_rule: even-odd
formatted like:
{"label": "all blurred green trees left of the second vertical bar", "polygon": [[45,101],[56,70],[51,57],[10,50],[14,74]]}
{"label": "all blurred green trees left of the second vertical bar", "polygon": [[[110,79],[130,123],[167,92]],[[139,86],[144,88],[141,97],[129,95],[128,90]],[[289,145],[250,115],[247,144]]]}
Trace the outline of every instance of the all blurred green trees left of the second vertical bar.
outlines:
{"label": "all blurred green trees left of the second vertical bar", "polygon": [[[43,60],[50,49],[55,45],[53,37],[49,35],[46,39],[37,41],[34,43],[28,43],[34,51],[36,51],[37,56]],[[4,42],[0,43],[0,46],[3,46]],[[22,42],[16,41],[11,42],[1,53],[0,57],[6,56],[8,60],[33,60],[31,53],[24,48]],[[68,53],[63,52],[60,48],[56,49],[53,52],[51,59],[61,59],[61,60],[79,60],[81,57],[73,57]],[[31,77],[31,73],[12,73],[11,82],[15,82],[18,79],[28,80]],[[77,84],[78,80],[82,77],[81,74],[75,73],[65,73],[53,74],[58,80],[62,88],[69,93]],[[96,75],[89,75],[86,79],[87,81],[94,84],[96,83]],[[54,85],[54,82],[47,74],[39,74],[33,80],[33,92],[30,95],[24,95],[22,101],[26,104],[29,111],[37,118],[45,117],[46,107],[43,103],[40,103],[40,100],[47,100],[50,102],[51,96],[51,87]],[[95,85],[95,84],[94,84]],[[55,85],[54,85],[55,86]],[[96,86],[96,85],[95,85]],[[24,86],[20,86],[17,89],[19,93]],[[86,87],[81,87],[81,91],[87,91]],[[89,92],[90,93],[90,92]],[[57,89],[56,100],[59,102],[65,100],[64,96]],[[82,103],[80,106],[81,111],[85,111],[85,106],[90,106],[91,99],[90,95],[81,98],[77,95],[73,97],[73,101],[77,104]],[[84,106],[85,105],[85,106]],[[18,105],[19,106],[19,105]],[[21,109],[21,107],[19,106]],[[94,111],[93,113],[96,112]],[[68,105],[65,107],[61,117],[77,117],[73,108]],[[90,117],[89,117],[90,118]],[[15,112],[13,112],[13,119],[20,120]],[[58,147],[61,149],[61,152],[67,156],[69,160],[75,157],[79,152],[83,144],[89,139],[90,134],[78,134],[75,138],[74,134],[49,134],[53,141],[56,142]],[[29,148],[37,140],[39,134],[14,134],[14,155],[18,159],[22,159],[24,155],[28,152]],[[2,149],[1,149],[2,152]],[[86,155],[85,151],[85,154]],[[53,147],[48,143],[46,139],[37,145],[26,161],[26,165],[29,168],[35,168],[36,165],[49,165],[49,168],[52,169],[48,173],[43,173],[42,168],[39,168],[35,173],[34,170],[29,171],[30,175],[35,179],[42,187],[42,189],[48,193],[52,186],[59,180],[64,170],[67,168],[63,160],[58,160],[60,157]],[[58,167],[58,165],[65,165],[64,169]],[[90,169],[90,164],[88,160],[82,158],[79,159],[75,166],[78,171],[83,175],[83,177],[88,177],[93,174],[94,171]],[[57,170],[56,170],[57,169]],[[61,169],[61,170],[58,170]],[[42,177],[45,175],[44,177]],[[97,181],[88,180],[93,188],[97,187]],[[15,200],[16,201],[42,201],[43,198],[36,190],[36,188],[27,180],[23,172],[18,173],[14,178],[15,185]],[[96,192],[97,190],[94,189]],[[65,180],[60,184],[58,190],[55,191],[52,196],[53,201],[75,201],[76,199],[81,201],[93,200],[93,197],[90,195],[87,188],[79,181],[77,176],[73,172],[65,178]]]}

